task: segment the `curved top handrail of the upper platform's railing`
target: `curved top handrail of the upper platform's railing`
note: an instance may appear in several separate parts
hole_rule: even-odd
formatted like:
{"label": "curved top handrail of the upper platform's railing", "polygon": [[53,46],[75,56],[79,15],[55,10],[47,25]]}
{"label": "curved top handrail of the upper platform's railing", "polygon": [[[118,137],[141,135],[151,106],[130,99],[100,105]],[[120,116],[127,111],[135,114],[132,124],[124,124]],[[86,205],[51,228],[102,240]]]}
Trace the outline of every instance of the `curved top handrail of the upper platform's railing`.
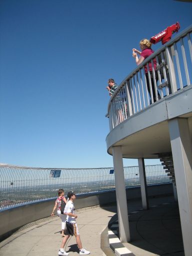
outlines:
{"label": "curved top handrail of the upper platform's railing", "polygon": [[118,91],[123,87],[124,83],[126,80],[128,80],[130,77],[133,76],[133,74],[135,74],[139,69],[141,69],[144,65],[146,65],[147,62],[149,62],[149,60],[153,59],[156,55],[158,55],[160,52],[162,52],[163,50],[165,50],[165,48],[167,48],[168,46],[172,45],[173,43],[177,42],[181,37],[185,36],[187,33],[192,31],[192,24],[189,25],[187,28],[185,28],[182,32],[178,33],[174,38],[172,38],[171,40],[169,40],[168,42],[166,42],[165,44],[163,44],[159,49],[155,50],[150,56],[148,56],[146,59],[144,59],[142,61],[142,63],[140,63],[138,66],[136,66],[133,71],[131,73],[129,73],[118,85],[118,87],[115,89],[114,93],[112,94],[112,96],[109,99],[108,102],[108,107],[107,107],[107,114],[109,113],[109,108],[110,108],[110,102],[112,101],[112,99],[115,97],[115,95],[118,93]]}

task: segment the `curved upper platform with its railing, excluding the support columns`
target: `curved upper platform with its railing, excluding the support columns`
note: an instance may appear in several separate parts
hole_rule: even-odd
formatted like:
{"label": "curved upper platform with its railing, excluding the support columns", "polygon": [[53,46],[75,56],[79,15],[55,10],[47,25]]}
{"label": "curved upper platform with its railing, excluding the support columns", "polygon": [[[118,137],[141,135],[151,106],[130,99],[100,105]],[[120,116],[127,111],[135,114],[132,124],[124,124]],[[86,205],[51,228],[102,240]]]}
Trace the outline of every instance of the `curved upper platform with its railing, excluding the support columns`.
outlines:
{"label": "curved upper platform with its railing, excluding the support columns", "polygon": [[[175,117],[188,118],[191,135],[191,30],[192,26],[188,27],[150,55],[113,93],[107,112],[109,154],[112,146],[119,145],[125,158],[159,158],[159,153],[170,152],[168,120]],[[155,95],[149,72],[150,90],[147,89],[144,66],[149,63],[152,73],[157,74],[154,75]]]}

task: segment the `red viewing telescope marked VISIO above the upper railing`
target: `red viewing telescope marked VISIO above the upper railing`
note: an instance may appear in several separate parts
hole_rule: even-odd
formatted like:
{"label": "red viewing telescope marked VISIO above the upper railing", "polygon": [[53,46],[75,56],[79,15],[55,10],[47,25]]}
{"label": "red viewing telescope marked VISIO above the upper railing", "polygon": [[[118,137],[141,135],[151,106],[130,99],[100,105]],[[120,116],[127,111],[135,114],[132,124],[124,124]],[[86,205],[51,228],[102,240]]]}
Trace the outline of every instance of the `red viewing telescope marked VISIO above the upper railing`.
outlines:
{"label": "red viewing telescope marked VISIO above the upper railing", "polygon": [[173,24],[171,26],[167,26],[167,28],[165,28],[164,30],[162,30],[162,32],[157,33],[156,35],[152,36],[150,38],[150,42],[155,44],[159,41],[162,42],[162,44],[164,44],[165,42],[169,41],[171,38],[171,35],[174,32],[178,32],[178,29],[180,28],[180,25],[178,22],[176,22],[176,24]]}

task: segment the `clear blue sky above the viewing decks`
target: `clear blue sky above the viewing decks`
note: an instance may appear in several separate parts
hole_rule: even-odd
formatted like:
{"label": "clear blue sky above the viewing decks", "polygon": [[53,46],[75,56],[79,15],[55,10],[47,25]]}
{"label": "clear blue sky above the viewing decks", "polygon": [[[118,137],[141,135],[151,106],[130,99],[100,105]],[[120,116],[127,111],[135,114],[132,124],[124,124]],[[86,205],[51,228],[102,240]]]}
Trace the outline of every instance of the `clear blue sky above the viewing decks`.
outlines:
{"label": "clear blue sky above the viewing decks", "polygon": [[112,166],[107,79],[119,84],[140,39],[182,31],[191,13],[175,0],[0,0],[0,162]]}

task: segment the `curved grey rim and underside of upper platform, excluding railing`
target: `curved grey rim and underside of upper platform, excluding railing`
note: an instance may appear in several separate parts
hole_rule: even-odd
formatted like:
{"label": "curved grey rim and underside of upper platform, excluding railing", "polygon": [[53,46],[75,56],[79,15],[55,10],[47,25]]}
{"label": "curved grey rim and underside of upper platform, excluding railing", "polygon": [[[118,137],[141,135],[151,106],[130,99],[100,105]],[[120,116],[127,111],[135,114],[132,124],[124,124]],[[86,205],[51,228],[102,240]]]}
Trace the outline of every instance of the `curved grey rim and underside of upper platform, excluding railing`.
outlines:
{"label": "curved grey rim and underside of upper platform, excluding railing", "polygon": [[114,127],[106,137],[107,152],[121,146],[124,158],[159,158],[171,151],[168,120],[187,118],[192,137],[192,87],[187,86],[145,107]]}

